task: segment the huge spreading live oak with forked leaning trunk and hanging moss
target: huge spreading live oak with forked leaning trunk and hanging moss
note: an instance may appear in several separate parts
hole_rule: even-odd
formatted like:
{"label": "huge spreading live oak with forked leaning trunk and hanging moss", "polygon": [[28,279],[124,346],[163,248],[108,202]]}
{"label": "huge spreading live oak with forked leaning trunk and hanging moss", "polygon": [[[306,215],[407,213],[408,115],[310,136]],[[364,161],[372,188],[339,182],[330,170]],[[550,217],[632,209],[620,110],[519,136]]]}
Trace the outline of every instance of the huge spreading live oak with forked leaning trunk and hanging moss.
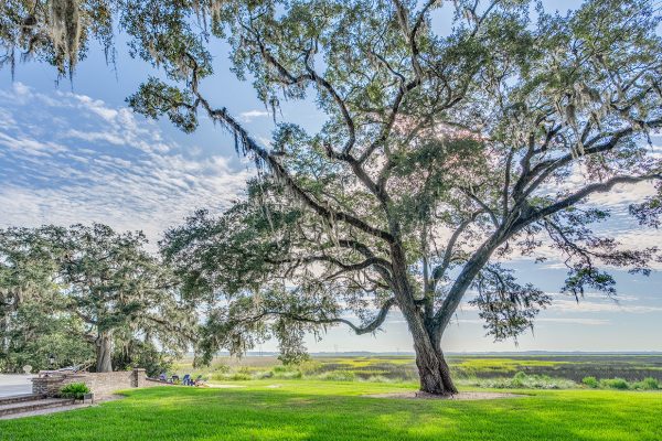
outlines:
{"label": "huge spreading live oak with forked leaning trunk and hanging moss", "polygon": [[[421,390],[453,394],[441,336],[468,292],[496,340],[552,301],[501,265],[509,256],[555,248],[568,267],[563,289],[577,298],[615,293],[600,268],[648,273],[659,258],[596,234],[609,212],[586,204],[649,183],[656,194],[630,213],[659,223],[652,1],[587,1],[564,15],[516,0],[117,4],[131,53],[163,72],[129,104],[185,131],[202,114],[259,171],[246,202],[199,213],[163,244],[188,292],[216,303],[207,352],[275,334],[296,358],[306,331],[371,333],[397,308]],[[453,14],[450,28],[439,9]],[[204,90],[223,86],[217,39],[275,116],[284,99],[314,98],[321,128],[279,122],[267,148],[215,107]]]}

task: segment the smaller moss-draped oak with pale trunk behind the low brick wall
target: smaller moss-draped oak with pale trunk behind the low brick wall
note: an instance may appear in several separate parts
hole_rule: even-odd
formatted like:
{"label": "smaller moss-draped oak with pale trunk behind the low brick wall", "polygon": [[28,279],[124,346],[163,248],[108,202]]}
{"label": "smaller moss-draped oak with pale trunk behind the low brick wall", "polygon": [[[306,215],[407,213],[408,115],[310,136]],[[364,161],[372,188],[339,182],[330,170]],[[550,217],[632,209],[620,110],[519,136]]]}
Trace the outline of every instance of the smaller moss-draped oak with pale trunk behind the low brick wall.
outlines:
{"label": "smaller moss-draped oak with pale trunk behind the low brick wall", "polygon": [[[11,239],[3,240],[1,256],[3,279],[13,287],[0,292],[13,292],[22,308],[9,316],[12,329],[25,331],[41,316],[43,326],[32,326],[31,335],[46,341],[65,337],[61,331],[68,326],[70,346],[94,347],[96,372],[113,370],[114,344],[119,362],[160,358],[138,356],[154,344],[170,353],[186,349],[195,325],[191,303],[182,301],[168,266],[145,249],[141,233],[118,234],[100,224],[1,233]],[[58,363],[67,359],[56,355]]]}

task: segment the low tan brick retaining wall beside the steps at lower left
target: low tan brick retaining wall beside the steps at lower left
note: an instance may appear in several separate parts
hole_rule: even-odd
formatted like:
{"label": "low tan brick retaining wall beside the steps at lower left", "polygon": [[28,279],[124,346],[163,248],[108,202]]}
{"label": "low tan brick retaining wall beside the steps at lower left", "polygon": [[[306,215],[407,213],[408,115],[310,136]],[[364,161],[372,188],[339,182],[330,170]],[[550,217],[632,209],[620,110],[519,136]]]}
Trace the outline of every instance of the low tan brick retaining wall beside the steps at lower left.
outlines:
{"label": "low tan brick retaining wall beside the steps at lower left", "polygon": [[32,392],[52,397],[72,383],[85,383],[96,396],[110,395],[117,390],[135,387],[169,385],[147,378],[145,369],[140,368],[113,373],[44,372],[40,373],[38,378],[32,378]]}

